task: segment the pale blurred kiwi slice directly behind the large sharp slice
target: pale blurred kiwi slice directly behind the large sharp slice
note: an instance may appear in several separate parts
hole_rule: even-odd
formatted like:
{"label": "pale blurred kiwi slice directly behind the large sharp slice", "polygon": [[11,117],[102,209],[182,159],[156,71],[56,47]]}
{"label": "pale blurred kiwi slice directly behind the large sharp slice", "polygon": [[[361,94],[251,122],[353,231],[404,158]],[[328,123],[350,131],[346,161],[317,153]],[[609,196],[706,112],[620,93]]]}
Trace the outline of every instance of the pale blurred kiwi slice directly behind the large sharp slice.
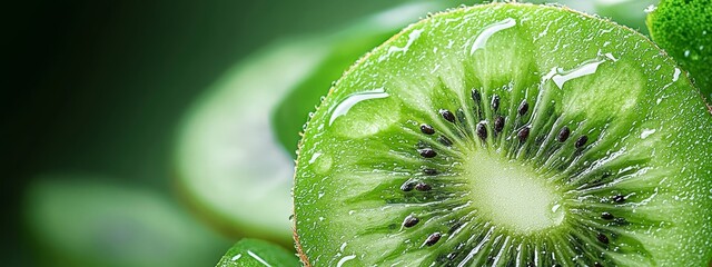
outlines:
{"label": "pale blurred kiwi slice directly behind the large sharp slice", "polygon": [[308,111],[352,61],[444,4],[416,1],[337,34],[283,40],[229,70],[179,129],[175,166],[185,199],[231,236],[291,246],[290,155]]}

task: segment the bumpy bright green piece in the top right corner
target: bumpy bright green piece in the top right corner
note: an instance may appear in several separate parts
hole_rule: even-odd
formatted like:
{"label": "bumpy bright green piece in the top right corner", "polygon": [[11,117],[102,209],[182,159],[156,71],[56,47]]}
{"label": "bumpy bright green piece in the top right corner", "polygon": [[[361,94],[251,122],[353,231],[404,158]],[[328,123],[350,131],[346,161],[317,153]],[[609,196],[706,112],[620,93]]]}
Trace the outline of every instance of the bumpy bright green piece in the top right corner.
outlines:
{"label": "bumpy bright green piece in the top right corner", "polygon": [[712,0],[663,0],[647,16],[653,40],[712,99]]}

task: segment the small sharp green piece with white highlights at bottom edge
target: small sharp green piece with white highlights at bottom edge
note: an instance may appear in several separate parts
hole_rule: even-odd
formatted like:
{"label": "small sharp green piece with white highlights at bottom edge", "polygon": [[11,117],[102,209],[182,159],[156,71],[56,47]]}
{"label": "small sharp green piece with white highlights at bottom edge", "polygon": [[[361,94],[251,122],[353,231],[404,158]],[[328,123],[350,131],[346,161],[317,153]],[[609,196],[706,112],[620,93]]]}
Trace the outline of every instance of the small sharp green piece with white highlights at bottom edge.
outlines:
{"label": "small sharp green piece with white highlights at bottom edge", "polygon": [[300,266],[297,256],[275,244],[244,238],[220,258],[216,267]]}

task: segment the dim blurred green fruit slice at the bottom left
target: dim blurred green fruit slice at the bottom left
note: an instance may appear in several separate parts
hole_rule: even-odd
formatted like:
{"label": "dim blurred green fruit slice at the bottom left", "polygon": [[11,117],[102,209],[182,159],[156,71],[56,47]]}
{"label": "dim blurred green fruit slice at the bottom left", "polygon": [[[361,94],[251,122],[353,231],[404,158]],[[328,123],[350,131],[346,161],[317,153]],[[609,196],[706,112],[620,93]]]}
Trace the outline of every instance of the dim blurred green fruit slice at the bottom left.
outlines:
{"label": "dim blurred green fruit slice at the bottom left", "polygon": [[209,266],[229,244],[157,192],[93,176],[44,176],[26,194],[40,266]]}

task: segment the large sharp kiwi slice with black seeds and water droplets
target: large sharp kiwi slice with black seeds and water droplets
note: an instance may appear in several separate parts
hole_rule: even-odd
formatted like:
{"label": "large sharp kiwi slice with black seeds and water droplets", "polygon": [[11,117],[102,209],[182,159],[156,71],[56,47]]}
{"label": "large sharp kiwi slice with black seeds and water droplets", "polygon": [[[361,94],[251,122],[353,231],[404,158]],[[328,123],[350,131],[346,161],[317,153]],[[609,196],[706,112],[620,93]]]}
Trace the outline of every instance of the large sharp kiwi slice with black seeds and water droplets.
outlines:
{"label": "large sharp kiwi slice with black seeds and water droplets", "polygon": [[706,266],[712,116],[645,37],[492,3],[415,23],[307,125],[307,266]]}

